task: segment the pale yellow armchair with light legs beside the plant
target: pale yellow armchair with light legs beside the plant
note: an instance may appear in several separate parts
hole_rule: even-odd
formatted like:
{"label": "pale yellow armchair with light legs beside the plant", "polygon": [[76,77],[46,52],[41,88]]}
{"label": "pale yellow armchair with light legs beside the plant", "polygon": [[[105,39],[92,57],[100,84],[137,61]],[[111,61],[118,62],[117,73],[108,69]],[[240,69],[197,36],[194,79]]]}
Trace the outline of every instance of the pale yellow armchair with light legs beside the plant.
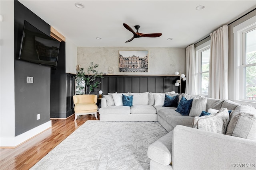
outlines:
{"label": "pale yellow armchair with light legs beside the plant", "polygon": [[74,95],[74,111],[75,111],[75,120],[77,119],[78,115],[89,115],[95,114],[96,119],[97,117],[97,103],[98,96],[95,94],[82,94],[82,95]]}

